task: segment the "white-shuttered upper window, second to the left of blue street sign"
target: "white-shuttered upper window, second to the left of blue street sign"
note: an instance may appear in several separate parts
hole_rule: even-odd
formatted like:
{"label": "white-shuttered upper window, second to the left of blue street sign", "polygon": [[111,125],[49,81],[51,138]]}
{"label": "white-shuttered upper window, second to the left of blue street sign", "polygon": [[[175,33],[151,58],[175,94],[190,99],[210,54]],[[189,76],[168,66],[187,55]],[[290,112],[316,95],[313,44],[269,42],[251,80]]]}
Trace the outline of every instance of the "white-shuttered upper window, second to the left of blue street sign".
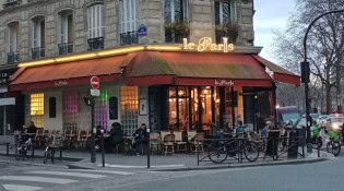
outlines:
{"label": "white-shuttered upper window, second to the left of blue street sign", "polygon": [[104,4],[87,9],[88,38],[104,37]]}

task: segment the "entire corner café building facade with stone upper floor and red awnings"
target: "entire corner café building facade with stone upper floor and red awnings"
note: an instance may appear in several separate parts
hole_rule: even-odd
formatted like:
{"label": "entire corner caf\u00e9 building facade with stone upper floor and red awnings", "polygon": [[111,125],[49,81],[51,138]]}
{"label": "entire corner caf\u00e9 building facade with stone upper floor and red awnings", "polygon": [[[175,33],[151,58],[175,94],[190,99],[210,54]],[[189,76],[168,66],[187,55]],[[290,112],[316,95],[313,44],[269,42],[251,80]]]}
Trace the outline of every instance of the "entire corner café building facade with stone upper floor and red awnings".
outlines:
{"label": "entire corner caf\u00e9 building facade with stone upper floor and red awnings", "polygon": [[252,0],[0,3],[0,67],[19,67],[7,96],[17,100],[14,118],[22,120],[11,130],[29,120],[47,130],[90,130],[83,97],[93,75],[100,79],[96,126],[118,121],[127,134],[140,123],[154,131],[254,123],[256,105],[273,112],[275,81],[299,85],[258,56]]}

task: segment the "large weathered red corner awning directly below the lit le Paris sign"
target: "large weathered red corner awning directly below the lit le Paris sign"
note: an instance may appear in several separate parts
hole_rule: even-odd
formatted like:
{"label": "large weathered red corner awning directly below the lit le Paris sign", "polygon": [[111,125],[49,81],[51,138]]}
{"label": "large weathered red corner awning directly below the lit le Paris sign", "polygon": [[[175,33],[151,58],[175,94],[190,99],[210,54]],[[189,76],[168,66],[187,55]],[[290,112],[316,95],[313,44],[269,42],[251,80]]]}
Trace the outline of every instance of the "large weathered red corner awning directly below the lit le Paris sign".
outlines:
{"label": "large weathered red corner awning directly below the lit le Paris sign", "polygon": [[142,51],[127,72],[129,85],[272,85],[264,68],[247,55]]}

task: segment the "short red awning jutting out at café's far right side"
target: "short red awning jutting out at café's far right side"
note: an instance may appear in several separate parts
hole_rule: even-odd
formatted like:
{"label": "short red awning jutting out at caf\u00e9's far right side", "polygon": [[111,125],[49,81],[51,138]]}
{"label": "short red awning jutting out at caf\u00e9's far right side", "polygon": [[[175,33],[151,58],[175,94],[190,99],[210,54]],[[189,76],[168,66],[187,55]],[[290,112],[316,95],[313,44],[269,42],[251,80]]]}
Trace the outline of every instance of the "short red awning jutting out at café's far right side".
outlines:
{"label": "short red awning jutting out at caf\u00e9's far right side", "polygon": [[273,80],[276,82],[284,82],[288,84],[294,84],[299,86],[300,85],[300,76],[283,69],[282,67],[272,63],[271,61],[260,57],[260,56],[252,56],[256,60],[258,60],[263,65],[268,67],[270,70],[273,71]]}

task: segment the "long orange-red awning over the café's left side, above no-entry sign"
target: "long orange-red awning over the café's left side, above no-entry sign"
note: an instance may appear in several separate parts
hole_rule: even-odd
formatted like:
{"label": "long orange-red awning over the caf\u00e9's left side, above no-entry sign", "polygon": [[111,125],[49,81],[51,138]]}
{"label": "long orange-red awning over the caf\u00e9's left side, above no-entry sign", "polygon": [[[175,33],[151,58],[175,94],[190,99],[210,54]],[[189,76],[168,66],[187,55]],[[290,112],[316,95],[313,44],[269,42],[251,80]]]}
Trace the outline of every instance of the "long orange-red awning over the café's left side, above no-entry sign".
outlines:
{"label": "long orange-red awning over the caf\u00e9's left side, above no-entry sign", "polygon": [[10,91],[88,84],[93,75],[98,76],[100,83],[118,81],[127,56],[21,68],[11,77]]}

